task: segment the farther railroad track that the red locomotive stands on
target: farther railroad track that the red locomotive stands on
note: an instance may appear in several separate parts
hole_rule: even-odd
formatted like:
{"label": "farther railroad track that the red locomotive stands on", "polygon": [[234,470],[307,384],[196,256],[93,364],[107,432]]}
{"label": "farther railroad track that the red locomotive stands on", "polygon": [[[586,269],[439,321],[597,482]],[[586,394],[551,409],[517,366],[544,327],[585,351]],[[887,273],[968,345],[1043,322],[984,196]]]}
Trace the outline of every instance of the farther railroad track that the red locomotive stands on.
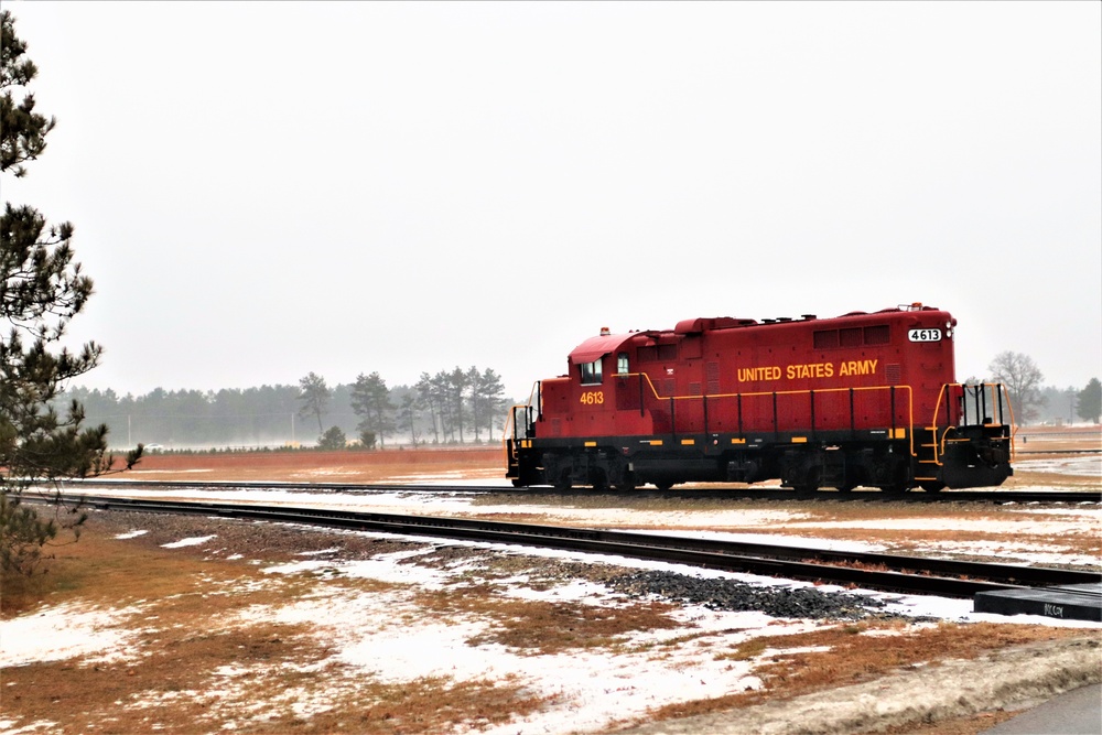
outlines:
{"label": "farther railroad track that the red locomotive stands on", "polygon": [[[233,480],[120,480],[120,479],[85,479],[65,483],[71,489],[89,488],[126,488],[153,490],[165,489],[212,489],[212,490],[300,490],[307,493],[471,493],[471,494],[514,494],[529,496],[592,496],[594,490],[573,488],[561,491],[552,487],[512,488],[507,485],[408,485],[408,484],[360,484],[360,483],[242,483]],[[598,491],[596,494],[604,494]],[[757,500],[836,500],[840,502],[1102,502],[1102,490],[1068,490],[1031,493],[1027,490],[942,490],[941,493],[892,494],[880,490],[856,490],[839,493],[836,490],[819,490],[806,496],[798,496],[793,490],[780,488],[752,487],[687,487],[670,490],[642,488],[634,493],[616,493],[620,497],[671,497],[671,498],[728,498]]]}

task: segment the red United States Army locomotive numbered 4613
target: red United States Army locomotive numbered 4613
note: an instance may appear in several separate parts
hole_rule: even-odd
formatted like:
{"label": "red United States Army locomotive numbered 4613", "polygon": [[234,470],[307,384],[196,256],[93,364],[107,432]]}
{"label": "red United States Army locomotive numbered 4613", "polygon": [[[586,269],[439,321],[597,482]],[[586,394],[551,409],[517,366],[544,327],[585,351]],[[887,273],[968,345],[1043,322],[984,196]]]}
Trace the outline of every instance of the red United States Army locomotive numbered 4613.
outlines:
{"label": "red United States Army locomotive numbered 4613", "polygon": [[695,318],[591,337],[506,428],[514,485],[812,491],[1000,485],[1013,474],[1002,386],[954,378],[948,312]]}

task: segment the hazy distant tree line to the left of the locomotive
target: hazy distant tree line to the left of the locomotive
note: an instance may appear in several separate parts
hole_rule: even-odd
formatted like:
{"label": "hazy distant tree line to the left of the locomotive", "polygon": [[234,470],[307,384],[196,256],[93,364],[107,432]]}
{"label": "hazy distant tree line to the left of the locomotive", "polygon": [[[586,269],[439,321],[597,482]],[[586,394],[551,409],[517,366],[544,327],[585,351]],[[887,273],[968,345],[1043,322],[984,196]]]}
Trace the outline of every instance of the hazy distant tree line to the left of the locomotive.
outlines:
{"label": "hazy distant tree line to the left of the locomotive", "polygon": [[296,386],[156,388],[137,397],[72,388],[60,400],[79,401],[88,422],[108,426],[112,443],[154,450],[482,443],[500,432],[509,403],[500,376],[474,366],[422,372],[415,385],[392,388],[378,372],[332,388],[311,372]]}

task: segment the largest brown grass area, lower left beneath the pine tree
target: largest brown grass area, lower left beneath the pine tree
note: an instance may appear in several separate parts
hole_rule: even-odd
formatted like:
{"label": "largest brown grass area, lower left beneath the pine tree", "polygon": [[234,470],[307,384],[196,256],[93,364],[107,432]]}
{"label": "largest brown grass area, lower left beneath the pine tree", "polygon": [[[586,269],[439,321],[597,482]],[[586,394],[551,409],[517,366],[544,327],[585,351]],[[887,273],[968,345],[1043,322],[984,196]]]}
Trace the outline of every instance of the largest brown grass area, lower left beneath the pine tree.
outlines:
{"label": "largest brown grass area, lower left beneath the pine tree", "polygon": [[[331,659],[333,650],[312,626],[242,621],[249,610],[315,592],[316,580],[263,574],[246,561],[204,558],[198,549],[110,538],[118,530],[110,516],[94,517],[85,538],[57,553],[46,576],[21,590],[6,584],[4,602],[9,614],[33,609],[39,599],[136,609],[136,655],[9,667],[0,677],[6,717],[21,725],[53,722],[50,731],[58,733],[208,733],[226,723],[244,733],[403,733],[504,722],[545,702],[509,681],[396,684],[349,671]],[[393,586],[338,584],[365,594]],[[462,606],[477,609],[480,597],[466,591]],[[486,597],[489,609],[500,612]],[[226,667],[238,674],[220,673]],[[313,705],[309,717],[299,709],[304,704]]]}

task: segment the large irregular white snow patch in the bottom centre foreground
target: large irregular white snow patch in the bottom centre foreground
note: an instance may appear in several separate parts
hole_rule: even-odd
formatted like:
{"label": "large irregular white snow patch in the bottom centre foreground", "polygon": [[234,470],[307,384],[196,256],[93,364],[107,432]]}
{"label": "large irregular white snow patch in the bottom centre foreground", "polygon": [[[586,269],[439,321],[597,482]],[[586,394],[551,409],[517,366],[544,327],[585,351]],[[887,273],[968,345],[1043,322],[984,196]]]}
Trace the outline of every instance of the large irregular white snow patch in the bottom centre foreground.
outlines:
{"label": "large irregular white snow patch in the bottom centre foreground", "polygon": [[[342,571],[356,565],[344,564]],[[285,565],[269,571],[277,570],[289,571]],[[383,574],[376,579],[402,576]],[[642,715],[650,707],[754,689],[760,685],[750,673],[756,659],[717,659],[709,655],[710,649],[730,648],[757,635],[795,634],[817,627],[800,620],[778,624],[776,618],[760,613],[689,607],[676,614],[683,627],[637,631],[606,649],[531,656],[497,644],[471,645],[471,639],[493,624],[467,614],[447,620],[425,619],[410,601],[411,590],[399,587],[371,594],[318,590],[307,599],[253,608],[248,618],[312,624],[314,635],[337,649],[335,661],[378,681],[401,683],[425,677],[509,681],[555,694],[547,710],[479,731],[488,735],[511,735],[529,727],[550,733],[597,729],[617,718]],[[623,602],[603,586],[586,582],[545,592],[515,587],[509,594],[593,605]],[[411,646],[411,640],[417,645]]]}

